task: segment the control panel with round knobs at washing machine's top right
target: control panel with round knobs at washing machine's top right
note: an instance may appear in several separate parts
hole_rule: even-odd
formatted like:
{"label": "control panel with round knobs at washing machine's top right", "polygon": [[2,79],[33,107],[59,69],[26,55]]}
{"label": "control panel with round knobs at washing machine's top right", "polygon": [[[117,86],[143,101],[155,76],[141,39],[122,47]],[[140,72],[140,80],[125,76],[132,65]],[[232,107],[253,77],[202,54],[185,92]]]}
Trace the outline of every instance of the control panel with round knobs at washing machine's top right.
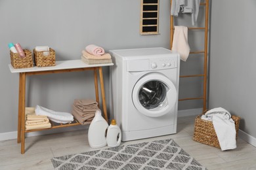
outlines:
{"label": "control panel with round knobs at washing machine's top right", "polygon": [[177,67],[177,58],[150,59],[150,69],[171,69]]}

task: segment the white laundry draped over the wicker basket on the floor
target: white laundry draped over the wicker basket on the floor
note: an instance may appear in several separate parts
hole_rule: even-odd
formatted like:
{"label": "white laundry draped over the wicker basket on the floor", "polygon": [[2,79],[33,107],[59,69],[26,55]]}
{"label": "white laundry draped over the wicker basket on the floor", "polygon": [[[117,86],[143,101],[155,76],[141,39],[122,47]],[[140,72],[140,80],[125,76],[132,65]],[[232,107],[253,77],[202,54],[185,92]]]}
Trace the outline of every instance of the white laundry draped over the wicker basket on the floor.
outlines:
{"label": "white laundry draped over the wicker basket on the floor", "polygon": [[202,115],[202,119],[213,122],[221,150],[236,148],[236,127],[230,112],[222,107],[211,109]]}

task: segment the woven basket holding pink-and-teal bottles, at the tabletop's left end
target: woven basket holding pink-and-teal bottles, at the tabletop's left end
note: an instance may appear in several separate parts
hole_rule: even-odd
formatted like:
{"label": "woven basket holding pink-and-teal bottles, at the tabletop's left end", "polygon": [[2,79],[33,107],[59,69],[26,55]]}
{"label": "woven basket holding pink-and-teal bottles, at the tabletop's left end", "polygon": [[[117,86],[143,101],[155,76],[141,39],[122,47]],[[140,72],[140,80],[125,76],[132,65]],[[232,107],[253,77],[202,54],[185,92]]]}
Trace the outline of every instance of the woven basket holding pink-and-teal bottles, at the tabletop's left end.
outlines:
{"label": "woven basket holding pink-and-teal bottles, at the tabletop's left end", "polygon": [[24,49],[23,51],[26,54],[26,57],[24,58],[21,58],[18,53],[13,53],[12,51],[10,51],[11,65],[14,69],[24,69],[33,67],[32,52],[30,52],[30,50],[27,49]]}

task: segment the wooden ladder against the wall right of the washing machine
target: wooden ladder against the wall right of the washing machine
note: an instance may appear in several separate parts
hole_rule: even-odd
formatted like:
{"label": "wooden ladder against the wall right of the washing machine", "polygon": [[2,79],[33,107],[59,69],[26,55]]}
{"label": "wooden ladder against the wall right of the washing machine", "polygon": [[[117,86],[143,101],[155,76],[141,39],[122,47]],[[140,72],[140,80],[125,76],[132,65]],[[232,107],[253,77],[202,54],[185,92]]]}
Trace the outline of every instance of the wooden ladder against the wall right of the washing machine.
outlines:
{"label": "wooden ladder against the wall right of the washing machine", "polygon": [[[172,4],[172,0],[171,0]],[[185,100],[196,100],[196,99],[203,99],[203,111],[206,110],[207,105],[207,49],[208,49],[208,18],[209,18],[209,0],[205,0],[204,3],[200,3],[200,6],[205,6],[205,23],[204,27],[188,27],[188,30],[198,30],[198,29],[204,29],[204,50],[202,51],[190,51],[190,54],[204,54],[204,61],[203,61],[203,74],[201,75],[181,75],[180,78],[187,78],[187,77],[203,77],[203,96],[202,97],[191,97],[191,98],[183,98],[179,99],[179,101],[185,101]],[[171,16],[170,20],[170,44],[171,48],[173,46],[173,34],[174,34],[174,17]]]}

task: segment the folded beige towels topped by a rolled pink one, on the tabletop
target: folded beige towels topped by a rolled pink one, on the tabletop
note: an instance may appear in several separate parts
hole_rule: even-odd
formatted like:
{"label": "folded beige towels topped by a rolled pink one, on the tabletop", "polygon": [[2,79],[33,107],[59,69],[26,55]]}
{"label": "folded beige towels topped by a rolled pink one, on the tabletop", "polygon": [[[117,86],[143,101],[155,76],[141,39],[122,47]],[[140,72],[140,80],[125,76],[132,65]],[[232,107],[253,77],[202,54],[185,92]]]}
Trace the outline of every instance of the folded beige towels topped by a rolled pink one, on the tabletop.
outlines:
{"label": "folded beige towels topped by a rolled pink one, on the tabletop", "polygon": [[86,46],[85,50],[82,50],[82,54],[81,59],[87,64],[112,63],[110,54],[105,53],[100,46],[93,44]]}

